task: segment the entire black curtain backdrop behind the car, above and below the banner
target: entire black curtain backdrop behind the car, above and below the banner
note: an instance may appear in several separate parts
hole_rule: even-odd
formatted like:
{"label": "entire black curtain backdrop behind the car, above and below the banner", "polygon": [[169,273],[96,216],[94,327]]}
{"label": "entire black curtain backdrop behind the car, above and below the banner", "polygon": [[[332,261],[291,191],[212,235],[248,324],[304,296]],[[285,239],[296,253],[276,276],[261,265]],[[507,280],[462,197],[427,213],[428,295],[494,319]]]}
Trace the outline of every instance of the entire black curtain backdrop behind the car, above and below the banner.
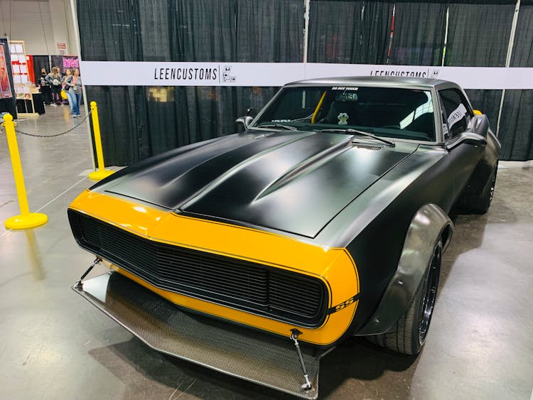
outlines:
{"label": "entire black curtain backdrop behind the car, above and below the banner", "polygon": [[[308,62],[387,63],[394,6],[389,63],[440,65],[449,6],[445,65],[505,65],[514,0],[311,0]],[[532,21],[526,9],[524,5],[520,11],[515,66],[531,65]],[[303,60],[301,0],[79,0],[77,12],[83,60]],[[278,89],[144,87],[141,83],[139,77],[136,87],[87,87],[89,100],[99,105],[109,165],[127,165],[176,146],[232,133],[237,129],[236,117],[248,107],[261,108]],[[467,92],[495,129],[501,91]],[[532,92],[507,92],[500,124],[504,158],[531,158]]]}

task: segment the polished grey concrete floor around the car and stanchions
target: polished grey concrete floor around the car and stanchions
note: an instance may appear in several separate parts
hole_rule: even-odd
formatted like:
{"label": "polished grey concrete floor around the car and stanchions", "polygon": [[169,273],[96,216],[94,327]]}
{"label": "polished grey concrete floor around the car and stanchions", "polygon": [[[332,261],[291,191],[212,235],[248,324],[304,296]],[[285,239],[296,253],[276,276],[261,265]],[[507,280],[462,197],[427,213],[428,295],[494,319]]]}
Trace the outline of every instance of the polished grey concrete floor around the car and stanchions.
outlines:
{"label": "polished grey concrete floor around the car and stanchions", "polygon": [[[79,121],[67,107],[46,111],[18,129],[53,134]],[[18,144],[31,210],[50,220],[5,231],[18,205],[0,135],[0,399],[291,399],[150,350],[71,291],[94,258],[75,244],[66,215],[92,184],[83,176],[91,168],[87,129],[18,136]],[[345,342],[321,364],[321,399],[529,399],[532,199],[533,162],[501,163],[488,214],[454,218],[421,355]]]}

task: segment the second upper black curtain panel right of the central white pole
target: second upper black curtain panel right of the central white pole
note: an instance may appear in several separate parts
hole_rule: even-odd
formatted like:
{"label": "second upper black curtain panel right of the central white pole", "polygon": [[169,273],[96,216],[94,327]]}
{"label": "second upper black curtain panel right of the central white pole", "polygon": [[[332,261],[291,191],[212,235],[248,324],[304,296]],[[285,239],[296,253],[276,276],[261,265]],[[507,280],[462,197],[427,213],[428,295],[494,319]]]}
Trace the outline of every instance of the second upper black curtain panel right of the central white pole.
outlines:
{"label": "second upper black curtain panel right of the central white pole", "polygon": [[389,64],[441,65],[446,8],[444,3],[397,1]]}

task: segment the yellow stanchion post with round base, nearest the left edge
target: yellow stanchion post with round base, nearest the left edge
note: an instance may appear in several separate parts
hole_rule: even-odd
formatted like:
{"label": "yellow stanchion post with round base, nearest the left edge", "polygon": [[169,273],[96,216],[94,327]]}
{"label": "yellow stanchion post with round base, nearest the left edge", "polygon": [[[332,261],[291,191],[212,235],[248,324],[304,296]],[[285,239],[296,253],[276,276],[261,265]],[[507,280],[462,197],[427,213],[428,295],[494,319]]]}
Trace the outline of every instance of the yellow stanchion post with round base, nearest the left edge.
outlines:
{"label": "yellow stanchion post with round base, nearest the left edge", "polygon": [[38,227],[48,221],[48,217],[41,212],[30,212],[28,198],[26,197],[26,185],[22,175],[21,156],[18,153],[18,144],[16,143],[15,125],[11,114],[4,115],[4,128],[6,129],[7,146],[11,155],[11,166],[13,166],[13,175],[15,178],[16,194],[18,196],[18,207],[21,209],[20,215],[8,218],[4,225],[6,229],[26,229]]}

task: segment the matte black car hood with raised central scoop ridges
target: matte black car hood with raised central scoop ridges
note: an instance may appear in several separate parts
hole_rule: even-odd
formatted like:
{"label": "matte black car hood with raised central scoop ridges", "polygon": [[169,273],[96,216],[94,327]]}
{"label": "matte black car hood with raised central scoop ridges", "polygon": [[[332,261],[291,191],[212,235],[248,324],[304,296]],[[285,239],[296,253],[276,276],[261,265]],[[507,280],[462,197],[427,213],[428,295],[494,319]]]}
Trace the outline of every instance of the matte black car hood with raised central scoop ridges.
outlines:
{"label": "matte black car hood with raised central scoop ridges", "polygon": [[337,133],[247,132],[125,168],[100,190],[185,215],[316,237],[417,146]]}

